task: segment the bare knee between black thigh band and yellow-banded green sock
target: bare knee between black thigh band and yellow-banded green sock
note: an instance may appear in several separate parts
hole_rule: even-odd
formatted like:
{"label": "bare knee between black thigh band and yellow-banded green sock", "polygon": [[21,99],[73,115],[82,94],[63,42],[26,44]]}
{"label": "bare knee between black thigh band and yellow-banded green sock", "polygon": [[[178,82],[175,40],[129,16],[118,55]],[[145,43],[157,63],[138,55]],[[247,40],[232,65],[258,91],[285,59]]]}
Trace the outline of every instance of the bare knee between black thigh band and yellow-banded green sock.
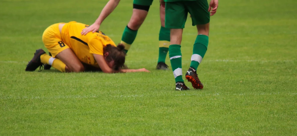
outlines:
{"label": "bare knee between black thigh band and yellow-banded green sock", "polygon": [[[136,4],[133,4],[136,5]],[[141,7],[148,7],[149,6],[142,6],[142,5],[138,5]],[[139,27],[142,25],[143,21],[146,19],[146,15],[148,14],[148,10],[140,9],[140,8],[134,8],[135,6],[133,6],[133,13],[131,16],[131,19],[128,23],[128,27],[132,30],[138,30]]]}

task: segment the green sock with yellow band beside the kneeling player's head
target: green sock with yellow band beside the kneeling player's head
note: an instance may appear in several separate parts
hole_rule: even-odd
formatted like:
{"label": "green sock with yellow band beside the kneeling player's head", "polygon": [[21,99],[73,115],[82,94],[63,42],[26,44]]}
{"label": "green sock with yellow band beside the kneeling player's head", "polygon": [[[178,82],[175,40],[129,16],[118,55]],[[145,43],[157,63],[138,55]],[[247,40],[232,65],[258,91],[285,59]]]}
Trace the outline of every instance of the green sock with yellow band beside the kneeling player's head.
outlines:
{"label": "green sock with yellow band beside the kneeling player's head", "polygon": [[124,51],[127,53],[131,47],[131,44],[134,42],[138,30],[132,30],[128,26],[125,27],[121,43],[125,45]]}

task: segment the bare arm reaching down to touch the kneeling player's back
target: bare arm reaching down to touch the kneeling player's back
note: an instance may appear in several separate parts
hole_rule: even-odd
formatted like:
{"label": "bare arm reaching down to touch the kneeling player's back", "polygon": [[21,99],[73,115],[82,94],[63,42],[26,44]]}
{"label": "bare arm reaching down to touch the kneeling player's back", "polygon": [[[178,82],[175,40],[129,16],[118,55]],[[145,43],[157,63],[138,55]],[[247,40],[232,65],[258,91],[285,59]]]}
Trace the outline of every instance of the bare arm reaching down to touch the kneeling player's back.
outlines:
{"label": "bare arm reaching down to touch the kneeling player's back", "polygon": [[104,6],[104,8],[102,9],[99,17],[97,18],[97,20],[89,27],[83,29],[81,31],[81,35],[86,35],[89,32],[96,32],[99,30],[101,23],[104,21],[105,18],[108,17],[108,15],[110,15],[111,12],[113,12],[113,10],[116,8],[116,6],[118,6],[120,0],[109,0],[107,2],[107,4]]}

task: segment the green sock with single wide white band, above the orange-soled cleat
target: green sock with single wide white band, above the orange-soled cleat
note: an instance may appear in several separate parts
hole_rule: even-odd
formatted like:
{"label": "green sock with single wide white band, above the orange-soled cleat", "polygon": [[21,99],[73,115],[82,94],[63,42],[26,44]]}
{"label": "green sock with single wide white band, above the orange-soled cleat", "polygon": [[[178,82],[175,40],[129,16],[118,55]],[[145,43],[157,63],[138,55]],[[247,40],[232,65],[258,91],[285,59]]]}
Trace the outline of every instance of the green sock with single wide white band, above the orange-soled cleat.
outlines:
{"label": "green sock with single wide white band, above the orange-soled cleat", "polygon": [[191,65],[190,67],[195,68],[197,70],[198,65],[201,63],[208,46],[208,36],[206,35],[197,35],[194,47],[193,47],[193,55],[191,57]]}

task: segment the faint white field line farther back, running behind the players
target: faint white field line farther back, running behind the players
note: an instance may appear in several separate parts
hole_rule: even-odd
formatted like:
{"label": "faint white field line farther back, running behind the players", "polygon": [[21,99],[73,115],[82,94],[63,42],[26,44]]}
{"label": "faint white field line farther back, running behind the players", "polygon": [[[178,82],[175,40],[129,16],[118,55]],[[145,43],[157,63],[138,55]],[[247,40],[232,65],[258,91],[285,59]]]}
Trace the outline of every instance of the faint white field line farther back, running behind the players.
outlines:
{"label": "faint white field line farther back, running behind the players", "polygon": [[[296,60],[203,60],[202,62],[295,62]],[[155,61],[147,61],[147,60],[127,60],[126,62],[155,62]],[[18,61],[0,61],[0,63],[16,63],[16,64],[27,64],[28,62],[18,62]]]}

